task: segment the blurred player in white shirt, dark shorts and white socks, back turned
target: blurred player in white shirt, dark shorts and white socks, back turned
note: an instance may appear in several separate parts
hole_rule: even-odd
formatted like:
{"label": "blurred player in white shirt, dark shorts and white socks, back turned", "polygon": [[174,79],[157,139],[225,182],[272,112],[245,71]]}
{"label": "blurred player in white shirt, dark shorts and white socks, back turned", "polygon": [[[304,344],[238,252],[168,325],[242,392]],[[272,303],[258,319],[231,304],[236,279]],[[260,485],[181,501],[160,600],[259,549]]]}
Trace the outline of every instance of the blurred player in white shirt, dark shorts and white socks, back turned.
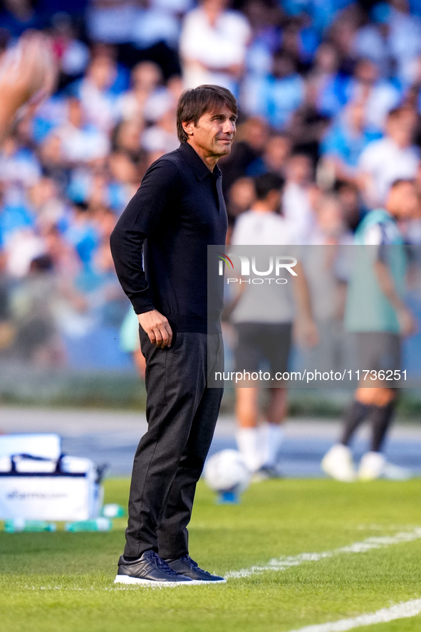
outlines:
{"label": "blurred player in white shirt, dark shorts and white socks, back turned", "polygon": [[[294,231],[279,214],[284,179],[264,174],[255,179],[256,199],[249,211],[237,218],[232,234],[233,246],[291,245]],[[289,254],[286,251],[286,254]],[[292,288],[280,292],[274,285],[243,285],[234,300],[231,321],[237,331],[235,364],[238,372],[255,372],[261,362],[269,362],[272,375],[288,369],[293,328],[303,344],[316,344],[317,330],[311,314],[306,276],[301,263]],[[259,388],[239,386],[235,413],[237,443],[254,480],[279,475],[279,451],[284,438],[282,424],[287,414],[286,388],[269,390],[264,414],[259,406]],[[261,422],[264,415],[265,421]]]}

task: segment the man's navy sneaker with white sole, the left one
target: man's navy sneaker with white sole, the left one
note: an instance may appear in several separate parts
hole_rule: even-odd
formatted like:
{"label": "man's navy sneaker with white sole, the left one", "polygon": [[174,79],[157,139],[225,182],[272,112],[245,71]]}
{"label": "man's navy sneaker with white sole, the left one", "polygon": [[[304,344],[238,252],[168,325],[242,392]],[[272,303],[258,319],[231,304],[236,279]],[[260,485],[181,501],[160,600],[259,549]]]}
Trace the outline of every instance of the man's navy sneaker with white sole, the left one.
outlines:
{"label": "man's navy sneaker with white sole, the left one", "polygon": [[195,584],[190,577],[172,570],[160,556],[149,549],[131,562],[124,555],[118,560],[115,584],[143,584],[145,586],[181,586]]}

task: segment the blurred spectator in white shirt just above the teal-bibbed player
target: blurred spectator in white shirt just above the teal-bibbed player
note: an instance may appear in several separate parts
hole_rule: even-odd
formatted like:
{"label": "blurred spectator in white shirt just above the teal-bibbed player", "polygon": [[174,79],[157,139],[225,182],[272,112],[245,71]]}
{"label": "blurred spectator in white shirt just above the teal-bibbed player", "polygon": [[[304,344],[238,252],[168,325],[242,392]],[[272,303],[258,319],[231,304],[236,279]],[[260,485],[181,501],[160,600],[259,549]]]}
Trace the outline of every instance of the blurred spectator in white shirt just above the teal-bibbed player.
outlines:
{"label": "blurred spectator in white shirt just above the teal-bibbed player", "polygon": [[360,188],[369,208],[383,206],[396,179],[414,178],[420,163],[420,148],[414,143],[417,113],[398,107],[388,114],[385,136],[373,140],[360,154]]}

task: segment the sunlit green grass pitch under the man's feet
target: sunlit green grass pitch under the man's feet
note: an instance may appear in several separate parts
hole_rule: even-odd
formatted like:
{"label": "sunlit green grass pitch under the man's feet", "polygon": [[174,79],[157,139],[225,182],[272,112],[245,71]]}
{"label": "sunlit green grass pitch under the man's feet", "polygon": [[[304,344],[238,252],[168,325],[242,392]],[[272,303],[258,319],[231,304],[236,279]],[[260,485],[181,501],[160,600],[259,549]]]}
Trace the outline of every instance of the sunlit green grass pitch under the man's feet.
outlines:
{"label": "sunlit green grass pitch under the man's feet", "polygon": [[[108,480],[105,501],[125,506],[128,480]],[[274,480],[240,505],[215,505],[199,483],[190,553],[219,573],[271,558],[321,552],[421,526],[420,482],[343,485]],[[288,632],[421,597],[421,540],[304,562],[219,586],[115,586],[125,520],[109,533],[0,532],[4,632]],[[420,632],[421,616],[358,628]]]}

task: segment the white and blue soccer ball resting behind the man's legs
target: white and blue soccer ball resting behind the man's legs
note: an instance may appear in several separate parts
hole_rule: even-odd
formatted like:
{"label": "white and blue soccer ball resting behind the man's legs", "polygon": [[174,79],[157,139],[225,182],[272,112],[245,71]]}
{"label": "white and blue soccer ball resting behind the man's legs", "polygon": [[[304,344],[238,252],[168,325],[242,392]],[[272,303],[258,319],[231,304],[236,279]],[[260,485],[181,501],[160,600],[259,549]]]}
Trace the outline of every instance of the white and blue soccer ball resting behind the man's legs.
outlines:
{"label": "white and blue soccer ball resting behind the man's legs", "polygon": [[207,460],[204,480],[214,492],[238,495],[248,488],[250,472],[239,451],[222,450]]}

